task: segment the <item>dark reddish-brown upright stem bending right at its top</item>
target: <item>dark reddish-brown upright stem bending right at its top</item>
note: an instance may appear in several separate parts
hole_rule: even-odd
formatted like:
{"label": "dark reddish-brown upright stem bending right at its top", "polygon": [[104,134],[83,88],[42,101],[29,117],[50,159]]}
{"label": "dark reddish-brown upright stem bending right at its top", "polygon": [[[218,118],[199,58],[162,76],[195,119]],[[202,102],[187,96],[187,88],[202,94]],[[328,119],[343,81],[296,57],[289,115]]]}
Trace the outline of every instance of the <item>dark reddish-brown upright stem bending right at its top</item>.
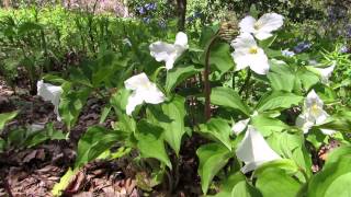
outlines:
{"label": "dark reddish-brown upright stem bending right at its top", "polygon": [[218,37],[219,31],[211,38],[205,54],[205,71],[204,71],[204,93],[205,93],[205,119],[208,120],[211,118],[211,84],[210,84],[210,55],[211,47],[215,44],[215,40]]}

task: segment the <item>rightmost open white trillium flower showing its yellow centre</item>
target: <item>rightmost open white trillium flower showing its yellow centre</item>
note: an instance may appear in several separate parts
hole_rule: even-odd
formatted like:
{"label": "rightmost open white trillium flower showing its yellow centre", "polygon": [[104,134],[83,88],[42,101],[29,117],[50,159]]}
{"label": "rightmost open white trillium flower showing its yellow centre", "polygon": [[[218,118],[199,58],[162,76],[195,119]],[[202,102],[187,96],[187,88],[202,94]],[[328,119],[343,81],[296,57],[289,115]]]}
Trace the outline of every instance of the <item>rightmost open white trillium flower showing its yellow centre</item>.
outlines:
{"label": "rightmost open white trillium flower showing its yellow centre", "polygon": [[[304,134],[307,134],[314,125],[320,125],[329,117],[326,111],[322,109],[324,102],[319,99],[315,90],[312,90],[305,100],[304,112],[297,117],[296,126],[302,128]],[[320,129],[325,135],[332,135],[335,130]]]}

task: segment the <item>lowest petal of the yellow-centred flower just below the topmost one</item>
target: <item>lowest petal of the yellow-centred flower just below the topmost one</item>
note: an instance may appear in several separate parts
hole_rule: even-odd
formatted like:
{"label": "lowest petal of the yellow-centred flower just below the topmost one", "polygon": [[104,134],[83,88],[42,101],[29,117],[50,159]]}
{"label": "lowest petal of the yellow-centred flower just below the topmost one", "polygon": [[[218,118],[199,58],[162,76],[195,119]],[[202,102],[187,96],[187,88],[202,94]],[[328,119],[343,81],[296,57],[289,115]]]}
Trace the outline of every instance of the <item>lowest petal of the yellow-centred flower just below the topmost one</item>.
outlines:
{"label": "lowest petal of the yellow-centred flower just below the topmost one", "polygon": [[252,71],[258,74],[267,74],[270,70],[270,65],[268,62],[268,57],[264,51],[259,48],[259,53],[252,55],[249,59],[249,66]]}

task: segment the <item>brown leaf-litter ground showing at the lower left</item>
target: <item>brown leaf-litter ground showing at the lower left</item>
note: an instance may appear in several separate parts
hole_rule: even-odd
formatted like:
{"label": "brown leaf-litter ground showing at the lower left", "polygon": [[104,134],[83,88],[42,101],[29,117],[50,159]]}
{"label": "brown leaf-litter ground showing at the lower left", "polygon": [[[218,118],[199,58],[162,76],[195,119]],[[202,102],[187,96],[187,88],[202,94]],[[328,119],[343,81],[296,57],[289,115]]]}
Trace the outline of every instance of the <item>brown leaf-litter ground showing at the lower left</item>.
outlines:
{"label": "brown leaf-litter ground showing at the lower left", "polygon": [[[64,125],[56,120],[54,106],[43,102],[36,95],[30,95],[26,89],[16,86],[14,91],[0,78],[0,113],[19,111],[19,115],[7,124],[4,137],[14,128],[54,123],[56,129]],[[91,97],[84,106],[76,126],[69,134],[69,140],[53,140],[33,148],[10,148],[0,153],[0,196],[52,196],[50,192],[60,177],[73,165],[79,138],[89,126],[98,125],[104,103]],[[110,127],[113,118],[103,126]],[[189,142],[191,144],[193,142]],[[200,196],[200,179],[196,175],[197,161],[195,148],[191,154],[182,158],[179,188],[171,196]],[[189,152],[189,149],[188,149]],[[94,161],[84,165],[70,181],[64,196],[170,196],[167,186],[159,186],[143,193],[137,185],[147,183],[147,172],[133,166],[125,159]],[[141,183],[143,185],[143,183]]]}

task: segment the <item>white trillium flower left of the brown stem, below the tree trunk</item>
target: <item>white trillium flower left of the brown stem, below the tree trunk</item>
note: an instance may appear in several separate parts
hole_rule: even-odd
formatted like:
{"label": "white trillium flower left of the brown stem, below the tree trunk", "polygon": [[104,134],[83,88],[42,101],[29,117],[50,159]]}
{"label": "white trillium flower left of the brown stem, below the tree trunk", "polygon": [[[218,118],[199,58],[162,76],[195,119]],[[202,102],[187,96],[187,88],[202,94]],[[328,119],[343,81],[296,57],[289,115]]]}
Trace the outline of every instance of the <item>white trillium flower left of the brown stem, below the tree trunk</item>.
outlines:
{"label": "white trillium flower left of the brown stem, below the tree trunk", "polygon": [[188,36],[183,32],[177,34],[174,44],[156,42],[149,46],[150,55],[157,61],[165,61],[167,70],[173,68],[177,58],[179,58],[188,48]]}

